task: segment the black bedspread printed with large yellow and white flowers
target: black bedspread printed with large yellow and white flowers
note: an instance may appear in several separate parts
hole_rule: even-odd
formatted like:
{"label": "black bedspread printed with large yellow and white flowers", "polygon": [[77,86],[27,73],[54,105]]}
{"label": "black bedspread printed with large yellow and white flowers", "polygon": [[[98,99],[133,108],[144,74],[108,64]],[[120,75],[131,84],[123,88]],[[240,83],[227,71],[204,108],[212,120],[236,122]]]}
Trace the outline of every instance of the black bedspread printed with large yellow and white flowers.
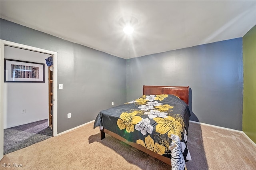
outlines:
{"label": "black bedspread printed with large yellow and white flowers", "polygon": [[[105,124],[108,130],[170,158],[176,162],[172,169],[186,169],[185,162],[191,160],[185,126],[188,125],[190,113],[184,101],[174,95],[143,95],[117,109],[107,109],[106,112],[115,116],[117,125],[113,126],[114,122],[110,121],[108,125]],[[97,122],[102,119],[110,117],[107,115]]]}

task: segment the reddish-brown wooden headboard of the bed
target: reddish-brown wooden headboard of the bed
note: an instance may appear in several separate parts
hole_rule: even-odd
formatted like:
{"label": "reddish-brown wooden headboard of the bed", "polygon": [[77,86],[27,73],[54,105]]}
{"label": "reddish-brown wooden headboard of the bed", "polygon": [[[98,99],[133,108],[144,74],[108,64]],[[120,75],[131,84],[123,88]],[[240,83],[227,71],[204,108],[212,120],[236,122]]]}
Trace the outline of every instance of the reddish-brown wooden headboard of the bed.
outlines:
{"label": "reddish-brown wooden headboard of the bed", "polygon": [[188,89],[182,86],[143,86],[143,95],[175,95],[182,99],[188,105]]}

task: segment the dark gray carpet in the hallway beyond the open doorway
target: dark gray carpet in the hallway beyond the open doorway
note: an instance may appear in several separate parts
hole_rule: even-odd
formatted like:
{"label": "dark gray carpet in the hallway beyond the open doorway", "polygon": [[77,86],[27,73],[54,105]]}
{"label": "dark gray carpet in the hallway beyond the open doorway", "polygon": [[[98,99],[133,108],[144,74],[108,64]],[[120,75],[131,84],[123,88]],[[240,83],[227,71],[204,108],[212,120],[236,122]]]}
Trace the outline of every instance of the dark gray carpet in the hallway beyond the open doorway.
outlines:
{"label": "dark gray carpet in the hallway beyond the open doorway", "polygon": [[4,129],[4,154],[20,150],[52,137],[48,119]]}

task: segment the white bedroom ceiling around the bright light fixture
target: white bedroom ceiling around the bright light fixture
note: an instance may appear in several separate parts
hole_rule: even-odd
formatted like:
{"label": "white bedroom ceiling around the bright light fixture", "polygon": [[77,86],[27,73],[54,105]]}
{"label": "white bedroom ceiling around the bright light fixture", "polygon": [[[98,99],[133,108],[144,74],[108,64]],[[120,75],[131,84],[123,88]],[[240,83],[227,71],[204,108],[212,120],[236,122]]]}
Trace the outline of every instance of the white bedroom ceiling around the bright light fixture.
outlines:
{"label": "white bedroom ceiling around the bright light fixture", "polygon": [[[124,59],[240,38],[256,25],[255,0],[0,3],[5,20]],[[124,18],[134,24],[131,36],[122,32]]]}

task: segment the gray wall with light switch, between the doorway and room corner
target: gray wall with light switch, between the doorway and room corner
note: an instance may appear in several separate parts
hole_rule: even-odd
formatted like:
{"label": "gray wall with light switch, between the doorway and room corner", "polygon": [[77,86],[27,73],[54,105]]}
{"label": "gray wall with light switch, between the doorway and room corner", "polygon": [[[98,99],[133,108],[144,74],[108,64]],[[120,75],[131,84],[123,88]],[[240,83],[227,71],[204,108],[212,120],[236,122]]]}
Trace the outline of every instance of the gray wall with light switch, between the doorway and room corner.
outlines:
{"label": "gray wall with light switch, between the doorway and room corner", "polygon": [[[58,52],[58,133],[126,102],[126,60],[1,19],[2,40]],[[67,119],[67,113],[72,117]]]}

